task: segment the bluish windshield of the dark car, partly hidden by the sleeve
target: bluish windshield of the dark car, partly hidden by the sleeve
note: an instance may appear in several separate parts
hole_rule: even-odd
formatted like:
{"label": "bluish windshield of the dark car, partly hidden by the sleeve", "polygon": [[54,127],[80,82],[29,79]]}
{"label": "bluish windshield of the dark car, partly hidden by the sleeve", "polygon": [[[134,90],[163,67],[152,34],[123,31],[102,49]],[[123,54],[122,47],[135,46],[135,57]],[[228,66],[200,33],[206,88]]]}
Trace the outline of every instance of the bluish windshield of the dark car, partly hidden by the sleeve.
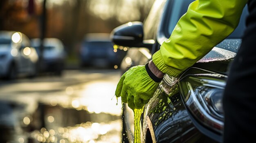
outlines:
{"label": "bluish windshield of the dark car, partly hidden by the sleeve", "polygon": [[[168,35],[170,36],[173,32],[174,27],[176,26],[178,20],[182,15],[184,15],[189,7],[189,4],[194,0],[175,0],[171,5],[171,17],[169,20],[169,27],[168,27]],[[246,6],[243,10],[243,13],[240,18],[240,22],[236,30],[231,33],[227,38],[228,39],[238,39],[241,38],[243,35],[243,31],[245,30],[245,19],[248,15],[248,7]]]}

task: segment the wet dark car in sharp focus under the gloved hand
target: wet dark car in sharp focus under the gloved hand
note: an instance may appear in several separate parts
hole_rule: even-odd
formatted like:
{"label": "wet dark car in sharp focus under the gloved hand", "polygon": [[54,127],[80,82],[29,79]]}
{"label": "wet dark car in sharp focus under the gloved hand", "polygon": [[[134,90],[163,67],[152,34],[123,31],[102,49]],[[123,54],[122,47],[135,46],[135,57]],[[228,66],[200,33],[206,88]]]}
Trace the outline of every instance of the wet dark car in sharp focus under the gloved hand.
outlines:
{"label": "wet dark car in sharp focus under the gloved hand", "polygon": [[[130,22],[112,31],[115,44],[132,47],[121,64],[123,73],[151,59],[191,2],[156,0],[144,23]],[[229,64],[241,43],[247,14],[245,7],[237,29],[178,79],[164,76],[141,115],[141,142],[222,142],[222,92]],[[133,130],[133,112],[124,104],[122,142],[133,141]]]}

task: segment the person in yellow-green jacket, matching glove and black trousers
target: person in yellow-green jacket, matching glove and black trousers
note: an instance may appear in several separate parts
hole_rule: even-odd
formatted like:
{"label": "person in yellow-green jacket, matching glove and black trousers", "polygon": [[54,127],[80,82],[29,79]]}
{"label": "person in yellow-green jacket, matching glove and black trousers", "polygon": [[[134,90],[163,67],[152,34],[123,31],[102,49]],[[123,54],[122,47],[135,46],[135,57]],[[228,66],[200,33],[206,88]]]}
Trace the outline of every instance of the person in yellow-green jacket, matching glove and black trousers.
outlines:
{"label": "person in yellow-green jacket, matching glove and black trousers", "polygon": [[250,142],[256,135],[256,0],[195,0],[170,38],[144,66],[130,68],[115,95],[132,109],[142,108],[165,74],[173,77],[191,67],[231,34],[248,4],[249,17],[224,92],[224,142]]}

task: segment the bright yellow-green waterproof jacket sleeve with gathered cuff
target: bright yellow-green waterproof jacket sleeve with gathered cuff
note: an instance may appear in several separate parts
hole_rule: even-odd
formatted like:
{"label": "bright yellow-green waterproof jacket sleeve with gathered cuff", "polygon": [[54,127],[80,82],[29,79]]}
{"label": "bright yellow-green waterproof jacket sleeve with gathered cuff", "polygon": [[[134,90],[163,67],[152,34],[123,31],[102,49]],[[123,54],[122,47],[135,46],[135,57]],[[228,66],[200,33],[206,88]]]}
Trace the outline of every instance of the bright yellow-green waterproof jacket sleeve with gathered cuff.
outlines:
{"label": "bright yellow-green waterproof jacket sleeve with gathered cuff", "polygon": [[196,0],[180,18],[170,38],[153,55],[159,70],[177,77],[224,40],[238,26],[247,0]]}

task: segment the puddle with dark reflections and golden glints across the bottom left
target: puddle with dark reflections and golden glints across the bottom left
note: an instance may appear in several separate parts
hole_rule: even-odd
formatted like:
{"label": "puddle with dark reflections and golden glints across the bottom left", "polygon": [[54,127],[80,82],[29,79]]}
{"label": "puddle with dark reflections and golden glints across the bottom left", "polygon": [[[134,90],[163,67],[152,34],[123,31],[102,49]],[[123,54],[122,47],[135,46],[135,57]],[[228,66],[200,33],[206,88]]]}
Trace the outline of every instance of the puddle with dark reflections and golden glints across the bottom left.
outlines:
{"label": "puddle with dark reflections and golden glints across the bottom left", "polygon": [[38,103],[33,112],[25,103],[0,101],[0,106],[1,143],[121,142],[122,122],[117,115],[59,104]]}

